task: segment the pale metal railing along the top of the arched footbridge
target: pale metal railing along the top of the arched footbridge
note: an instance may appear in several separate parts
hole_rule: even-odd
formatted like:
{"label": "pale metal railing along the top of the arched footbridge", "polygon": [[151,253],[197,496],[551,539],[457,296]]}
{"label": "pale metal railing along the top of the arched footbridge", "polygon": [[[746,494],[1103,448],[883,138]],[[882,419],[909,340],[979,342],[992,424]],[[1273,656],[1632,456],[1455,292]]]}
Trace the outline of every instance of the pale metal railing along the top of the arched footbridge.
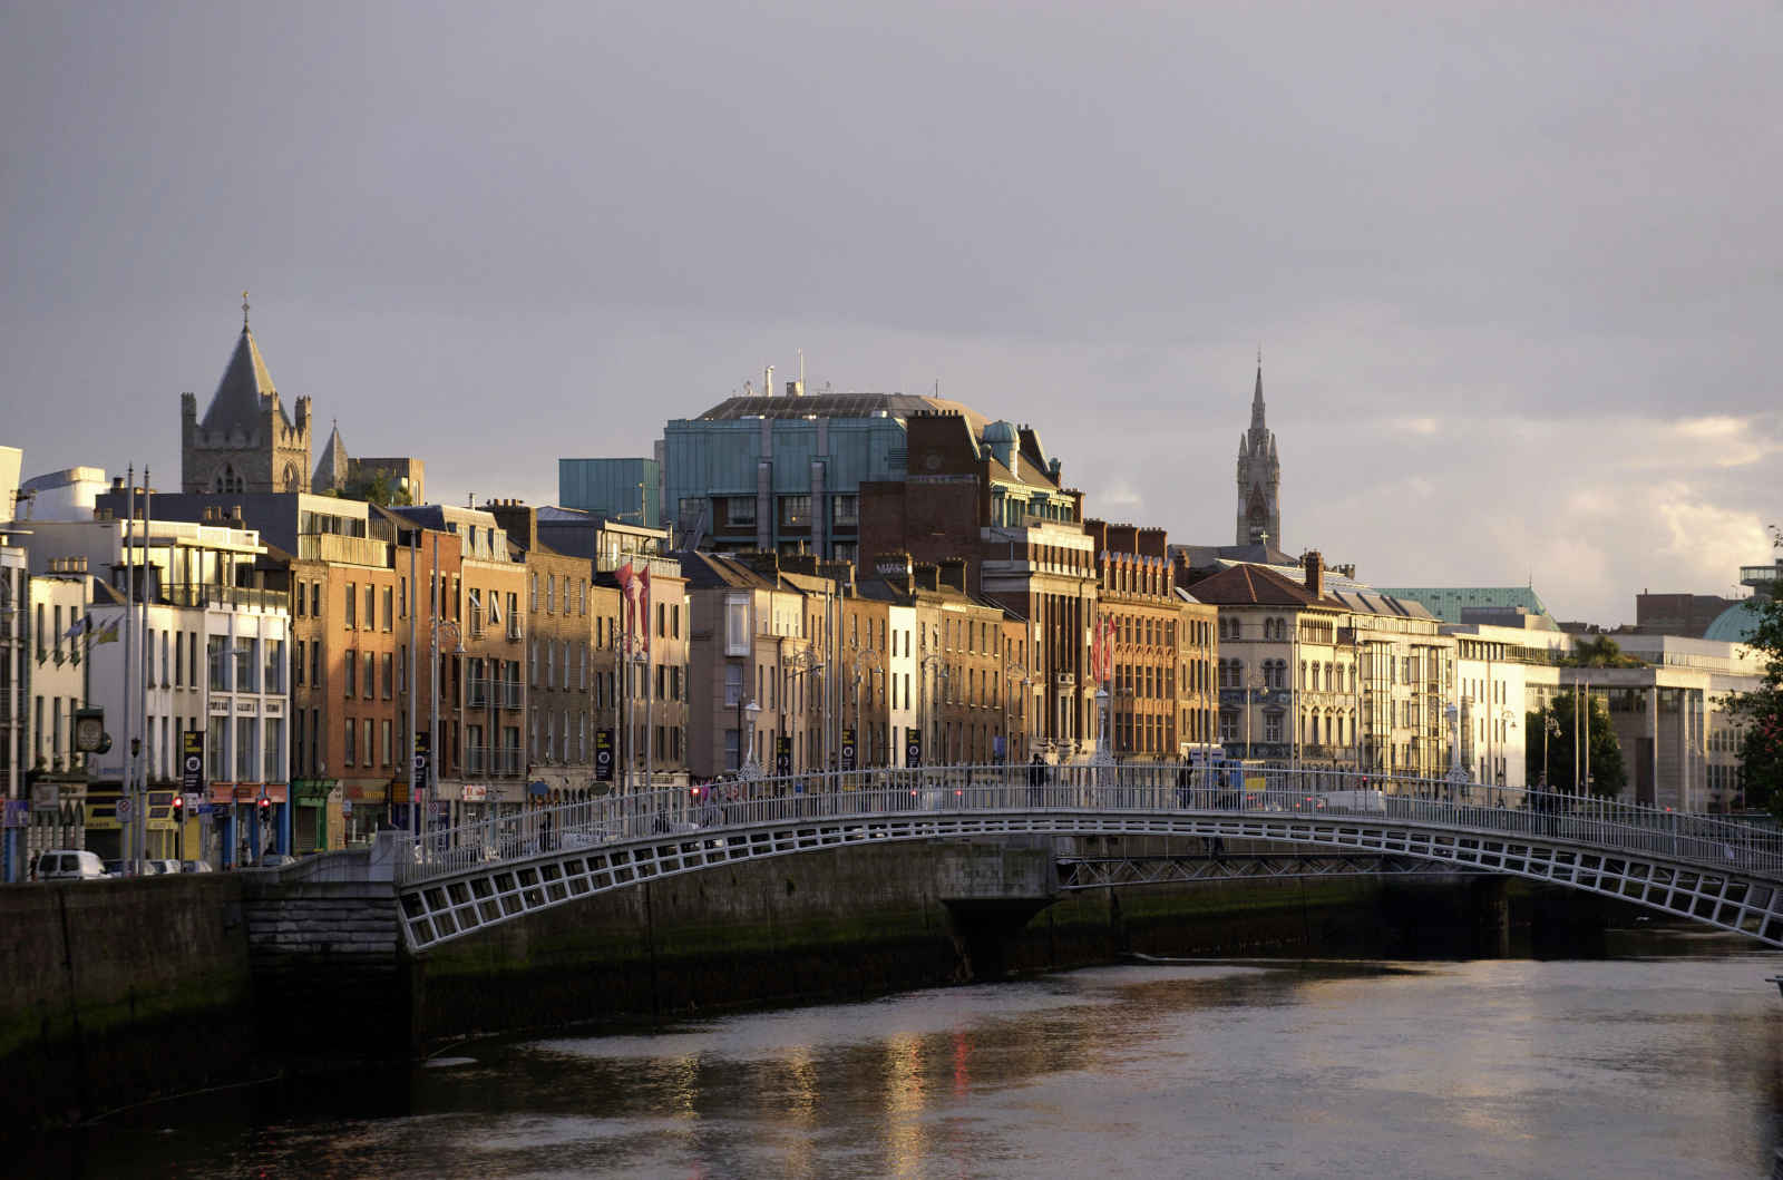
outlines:
{"label": "pale metal railing along the top of the arched footbridge", "polygon": [[715,840],[729,829],[801,818],[865,822],[924,813],[1038,811],[1401,820],[1467,836],[1535,836],[1730,872],[1783,872],[1783,834],[1712,815],[1446,779],[1095,763],[831,772],[608,795],[433,829],[399,872],[414,881],[542,852],[651,836]]}

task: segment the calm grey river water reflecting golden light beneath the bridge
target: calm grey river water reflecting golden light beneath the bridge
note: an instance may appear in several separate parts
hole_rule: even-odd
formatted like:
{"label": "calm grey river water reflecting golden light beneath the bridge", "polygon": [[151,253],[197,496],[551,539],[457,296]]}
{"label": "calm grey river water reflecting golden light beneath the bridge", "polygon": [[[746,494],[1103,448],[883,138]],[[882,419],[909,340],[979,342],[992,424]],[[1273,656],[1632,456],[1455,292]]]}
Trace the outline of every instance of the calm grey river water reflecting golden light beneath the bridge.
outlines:
{"label": "calm grey river water reflecting golden light beneath the bridge", "polygon": [[1765,1176],[1783,961],[1132,963],[146,1107],[71,1176]]}

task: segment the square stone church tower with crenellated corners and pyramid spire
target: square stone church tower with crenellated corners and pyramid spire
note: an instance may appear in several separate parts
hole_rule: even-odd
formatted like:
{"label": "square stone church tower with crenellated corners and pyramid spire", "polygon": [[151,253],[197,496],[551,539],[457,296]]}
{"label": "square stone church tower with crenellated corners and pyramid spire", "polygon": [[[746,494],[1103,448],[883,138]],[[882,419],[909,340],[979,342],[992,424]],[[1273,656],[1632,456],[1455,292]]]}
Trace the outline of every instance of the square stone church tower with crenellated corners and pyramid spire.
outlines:
{"label": "square stone church tower with crenellated corners and pyramid spire", "polygon": [[308,492],[308,397],[298,397],[296,415],[292,421],[278,401],[273,374],[248,328],[248,292],[242,292],[241,337],[203,421],[198,397],[180,394],[180,490]]}

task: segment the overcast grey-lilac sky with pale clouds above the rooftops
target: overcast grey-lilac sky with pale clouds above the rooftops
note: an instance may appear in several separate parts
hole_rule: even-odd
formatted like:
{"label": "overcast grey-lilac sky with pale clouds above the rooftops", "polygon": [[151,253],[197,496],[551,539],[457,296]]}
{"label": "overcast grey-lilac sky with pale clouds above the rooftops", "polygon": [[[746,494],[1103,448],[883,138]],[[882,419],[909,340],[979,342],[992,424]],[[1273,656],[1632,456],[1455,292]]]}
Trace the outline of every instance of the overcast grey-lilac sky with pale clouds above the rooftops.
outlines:
{"label": "overcast grey-lilac sky with pale clouds above the rooftops", "polygon": [[[744,381],[1032,422],[1086,512],[1562,619],[1783,522],[1783,7],[0,0],[0,444],[287,406],[556,499]],[[164,474],[162,474],[164,472]]]}

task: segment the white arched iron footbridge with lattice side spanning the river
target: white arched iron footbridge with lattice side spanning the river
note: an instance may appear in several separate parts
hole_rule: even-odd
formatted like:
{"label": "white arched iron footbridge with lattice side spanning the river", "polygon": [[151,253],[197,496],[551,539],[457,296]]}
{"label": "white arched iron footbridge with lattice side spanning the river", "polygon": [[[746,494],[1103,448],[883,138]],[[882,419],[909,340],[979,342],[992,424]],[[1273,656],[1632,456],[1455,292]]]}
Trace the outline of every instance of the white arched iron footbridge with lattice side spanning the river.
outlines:
{"label": "white arched iron footbridge with lattice side spanning the river", "polygon": [[1426,861],[1510,873],[1783,946],[1783,836],[1771,829],[1441,779],[1243,774],[1168,765],[842,772],[612,795],[435,829],[396,868],[403,936],[424,952],[654,877],[870,841],[1198,836],[1209,847],[1245,840],[1368,854],[1382,872]]}

